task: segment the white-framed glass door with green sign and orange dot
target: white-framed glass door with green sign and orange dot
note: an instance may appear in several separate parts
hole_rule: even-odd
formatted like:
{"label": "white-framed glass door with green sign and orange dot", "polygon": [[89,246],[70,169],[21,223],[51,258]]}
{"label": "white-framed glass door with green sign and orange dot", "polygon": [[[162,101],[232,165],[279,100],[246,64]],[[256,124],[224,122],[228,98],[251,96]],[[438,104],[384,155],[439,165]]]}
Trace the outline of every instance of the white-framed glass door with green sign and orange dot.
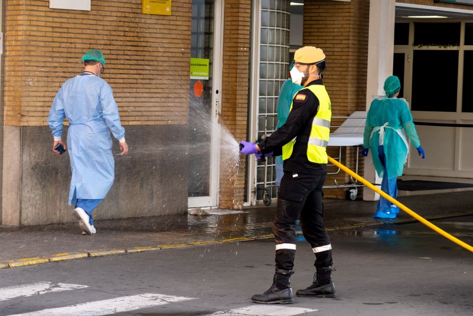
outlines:
{"label": "white-framed glass door with green sign and orange dot", "polygon": [[221,0],[192,1],[189,208],[217,206],[221,17]]}

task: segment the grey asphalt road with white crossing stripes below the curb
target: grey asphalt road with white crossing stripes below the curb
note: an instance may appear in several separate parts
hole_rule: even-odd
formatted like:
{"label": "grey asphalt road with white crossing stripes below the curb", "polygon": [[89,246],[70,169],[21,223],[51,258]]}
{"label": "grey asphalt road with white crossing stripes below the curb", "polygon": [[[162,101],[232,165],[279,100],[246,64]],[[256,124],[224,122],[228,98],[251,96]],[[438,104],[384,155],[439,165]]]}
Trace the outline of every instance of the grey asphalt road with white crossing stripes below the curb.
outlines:
{"label": "grey asphalt road with white crossing stripes below the curb", "polygon": [[[473,244],[473,217],[435,221]],[[0,270],[0,314],[472,315],[473,253],[422,224],[332,232],[337,298],[251,303],[274,273],[272,240],[90,258]],[[297,245],[293,291],[310,285],[310,246]]]}

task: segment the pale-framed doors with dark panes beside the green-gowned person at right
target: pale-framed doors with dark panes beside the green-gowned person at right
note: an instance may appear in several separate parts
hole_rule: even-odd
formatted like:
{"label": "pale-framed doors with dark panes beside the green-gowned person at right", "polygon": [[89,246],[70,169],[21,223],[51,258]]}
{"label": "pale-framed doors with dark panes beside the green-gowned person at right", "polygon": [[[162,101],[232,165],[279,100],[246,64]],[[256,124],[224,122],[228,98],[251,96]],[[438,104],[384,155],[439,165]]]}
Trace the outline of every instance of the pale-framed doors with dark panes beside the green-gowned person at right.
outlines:
{"label": "pale-framed doors with dark panes beside the green-gowned person at right", "polygon": [[[430,153],[419,159],[411,145],[405,175],[473,177],[473,106],[468,99],[473,23],[468,24],[453,19],[396,23],[393,73],[404,78],[401,96],[409,102],[422,147]],[[438,62],[448,66],[433,66]],[[435,85],[438,78],[442,80]]]}

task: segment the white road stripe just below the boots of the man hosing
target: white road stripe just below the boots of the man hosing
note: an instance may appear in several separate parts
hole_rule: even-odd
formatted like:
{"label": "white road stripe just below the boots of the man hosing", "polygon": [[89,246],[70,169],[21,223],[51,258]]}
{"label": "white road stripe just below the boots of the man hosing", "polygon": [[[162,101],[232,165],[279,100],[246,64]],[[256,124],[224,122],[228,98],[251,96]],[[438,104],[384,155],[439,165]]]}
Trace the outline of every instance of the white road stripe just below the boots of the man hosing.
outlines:
{"label": "white road stripe just below the boots of the man hosing", "polygon": [[251,305],[229,311],[218,311],[206,316],[294,316],[318,309],[286,307],[281,305]]}

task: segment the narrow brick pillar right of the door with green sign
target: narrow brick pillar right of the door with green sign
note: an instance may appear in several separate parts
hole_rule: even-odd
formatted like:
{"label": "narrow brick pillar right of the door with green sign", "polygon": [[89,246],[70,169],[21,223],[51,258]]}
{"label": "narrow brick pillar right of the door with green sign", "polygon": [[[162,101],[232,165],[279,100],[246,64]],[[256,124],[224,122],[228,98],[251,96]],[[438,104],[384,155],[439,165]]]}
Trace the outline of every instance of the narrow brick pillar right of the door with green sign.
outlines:
{"label": "narrow brick pillar right of the door with green sign", "polygon": [[[247,138],[251,1],[226,0],[224,9],[221,123],[237,141]],[[227,144],[228,145],[228,144]],[[222,144],[222,150],[225,144]],[[221,159],[220,208],[239,209],[245,189],[245,157],[235,168]]]}

